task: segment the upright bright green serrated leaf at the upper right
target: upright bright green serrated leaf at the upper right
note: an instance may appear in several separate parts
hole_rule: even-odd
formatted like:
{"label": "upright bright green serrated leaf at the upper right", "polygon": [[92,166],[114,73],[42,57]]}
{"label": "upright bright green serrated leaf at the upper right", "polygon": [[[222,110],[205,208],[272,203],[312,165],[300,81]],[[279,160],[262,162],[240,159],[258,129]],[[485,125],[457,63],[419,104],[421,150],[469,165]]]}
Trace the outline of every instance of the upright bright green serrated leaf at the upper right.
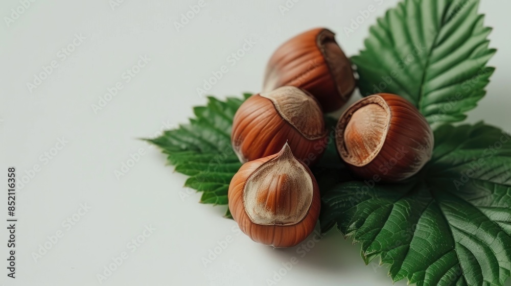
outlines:
{"label": "upright bright green serrated leaf at the upper right", "polygon": [[479,0],[405,0],[370,27],[352,58],[363,96],[396,93],[430,124],[458,122],[486,93],[494,68]]}

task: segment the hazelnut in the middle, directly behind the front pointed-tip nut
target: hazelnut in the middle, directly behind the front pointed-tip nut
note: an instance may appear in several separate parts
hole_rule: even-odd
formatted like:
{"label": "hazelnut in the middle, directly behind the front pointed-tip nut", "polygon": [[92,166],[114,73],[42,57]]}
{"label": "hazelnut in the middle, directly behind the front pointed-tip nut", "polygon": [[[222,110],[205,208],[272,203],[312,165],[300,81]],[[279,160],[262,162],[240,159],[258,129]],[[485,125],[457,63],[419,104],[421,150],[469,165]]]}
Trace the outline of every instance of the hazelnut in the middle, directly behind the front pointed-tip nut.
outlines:
{"label": "hazelnut in the middle, directly behind the front pointed-tip nut", "polygon": [[289,143],[306,164],[326,149],[323,112],[306,91],[283,86],[254,94],[236,111],[231,143],[242,163],[277,153]]}

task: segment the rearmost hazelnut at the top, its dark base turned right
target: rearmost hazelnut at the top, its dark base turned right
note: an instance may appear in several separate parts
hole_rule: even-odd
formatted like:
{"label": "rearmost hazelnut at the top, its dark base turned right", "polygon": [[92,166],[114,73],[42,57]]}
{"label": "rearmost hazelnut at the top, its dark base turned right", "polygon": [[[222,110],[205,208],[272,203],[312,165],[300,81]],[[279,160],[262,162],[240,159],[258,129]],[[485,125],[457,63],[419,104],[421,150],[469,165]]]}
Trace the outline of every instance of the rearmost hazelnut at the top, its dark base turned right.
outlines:
{"label": "rearmost hazelnut at the top, its dark base turned right", "polygon": [[278,47],[266,67],[263,91],[297,86],[312,93],[325,112],[342,107],[356,82],[350,60],[334,35],[324,28],[313,29]]}

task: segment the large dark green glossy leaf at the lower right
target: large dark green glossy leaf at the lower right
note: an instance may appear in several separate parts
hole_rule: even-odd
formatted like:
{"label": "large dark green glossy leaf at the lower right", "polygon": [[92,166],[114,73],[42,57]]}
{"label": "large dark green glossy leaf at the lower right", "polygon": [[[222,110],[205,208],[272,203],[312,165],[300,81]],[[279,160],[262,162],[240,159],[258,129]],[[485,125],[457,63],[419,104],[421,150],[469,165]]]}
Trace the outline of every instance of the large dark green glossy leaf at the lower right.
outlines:
{"label": "large dark green glossy leaf at the lower right", "polygon": [[511,270],[511,138],[482,123],[435,131],[431,161],[393,185],[338,183],[322,196],[322,231],[380,257],[393,281],[503,285]]}

